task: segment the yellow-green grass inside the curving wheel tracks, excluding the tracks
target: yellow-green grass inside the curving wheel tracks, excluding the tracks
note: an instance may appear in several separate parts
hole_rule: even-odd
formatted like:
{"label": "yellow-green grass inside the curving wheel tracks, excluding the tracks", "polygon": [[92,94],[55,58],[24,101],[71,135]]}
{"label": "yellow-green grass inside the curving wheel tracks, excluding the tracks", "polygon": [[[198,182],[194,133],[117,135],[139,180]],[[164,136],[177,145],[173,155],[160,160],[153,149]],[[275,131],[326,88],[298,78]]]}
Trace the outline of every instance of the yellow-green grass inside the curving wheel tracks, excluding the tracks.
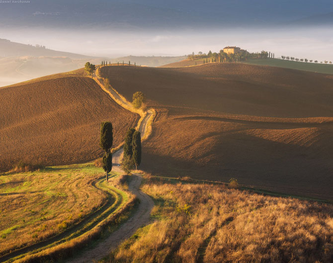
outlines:
{"label": "yellow-green grass inside the curving wheel tracks, excluding the tracks", "polygon": [[45,240],[106,202],[93,167],[57,167],[0,176],[0,256]]}

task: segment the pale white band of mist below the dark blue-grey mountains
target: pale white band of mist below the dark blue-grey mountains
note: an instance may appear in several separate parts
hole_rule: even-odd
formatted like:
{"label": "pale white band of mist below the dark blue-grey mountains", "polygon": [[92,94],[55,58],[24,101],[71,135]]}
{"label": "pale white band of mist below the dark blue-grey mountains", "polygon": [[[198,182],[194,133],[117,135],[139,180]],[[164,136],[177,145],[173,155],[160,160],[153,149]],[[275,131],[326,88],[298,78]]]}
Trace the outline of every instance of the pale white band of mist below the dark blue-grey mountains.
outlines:
{"label": "pale white band of mist below the dark blue-grey mountains", "polygon": [[164,30],[122,33],[45,29],[0,30],[0,38],[24,44],[83,55],[119,57],[126,55],[179,56],[199,51],[218,52],[236,45],[250,52],[267,50],[281,55],[313,60],[333,60],[333,27],[280,27],[272,29]]}

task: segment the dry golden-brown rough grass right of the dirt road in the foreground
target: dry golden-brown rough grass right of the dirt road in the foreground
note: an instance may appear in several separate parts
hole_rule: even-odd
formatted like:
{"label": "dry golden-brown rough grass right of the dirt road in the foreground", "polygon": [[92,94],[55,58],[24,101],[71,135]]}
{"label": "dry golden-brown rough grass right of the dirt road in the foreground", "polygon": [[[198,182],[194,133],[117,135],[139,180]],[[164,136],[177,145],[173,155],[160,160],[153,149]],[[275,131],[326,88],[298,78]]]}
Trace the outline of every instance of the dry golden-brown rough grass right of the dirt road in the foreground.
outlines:
{"label": "dry golden-brown rough grass right of the dirt road in the foreground", "polygon": [[333,205],[146,178],[156,220],[112,263],[313,263],[333,259]]}

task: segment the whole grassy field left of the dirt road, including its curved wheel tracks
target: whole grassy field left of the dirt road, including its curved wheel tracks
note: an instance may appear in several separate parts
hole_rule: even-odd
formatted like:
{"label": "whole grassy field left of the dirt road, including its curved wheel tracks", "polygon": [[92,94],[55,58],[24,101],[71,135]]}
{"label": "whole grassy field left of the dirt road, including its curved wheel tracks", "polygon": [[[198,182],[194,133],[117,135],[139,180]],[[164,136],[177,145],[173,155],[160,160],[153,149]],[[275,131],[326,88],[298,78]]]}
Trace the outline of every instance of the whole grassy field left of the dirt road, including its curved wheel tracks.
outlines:
{"label": "whole grassy field left of the dirt road, including its curved wheel tracks", "polygon": [[99,235],[104,221],[123,216],[132,195],[113,186],[116,173],[109,182],[104,176],[93,163],[0,174],[0,261],[54,252],[69,241],[86,245],[86,233]]}

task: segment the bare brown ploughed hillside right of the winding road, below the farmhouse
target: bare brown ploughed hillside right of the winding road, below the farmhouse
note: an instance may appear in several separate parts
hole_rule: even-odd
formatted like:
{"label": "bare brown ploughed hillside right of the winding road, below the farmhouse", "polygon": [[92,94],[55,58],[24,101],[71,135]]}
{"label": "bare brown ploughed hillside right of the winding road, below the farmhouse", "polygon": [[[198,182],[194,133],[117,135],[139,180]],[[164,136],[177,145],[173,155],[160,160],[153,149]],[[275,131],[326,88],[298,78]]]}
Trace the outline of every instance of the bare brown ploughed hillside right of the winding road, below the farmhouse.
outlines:
{"label": "bare brown ploughed hillside right of the winding road, below the farmhouse", "polygon": [[104,67],[158,110],[141,169],[333,200],[333,77],[245,64]]}

